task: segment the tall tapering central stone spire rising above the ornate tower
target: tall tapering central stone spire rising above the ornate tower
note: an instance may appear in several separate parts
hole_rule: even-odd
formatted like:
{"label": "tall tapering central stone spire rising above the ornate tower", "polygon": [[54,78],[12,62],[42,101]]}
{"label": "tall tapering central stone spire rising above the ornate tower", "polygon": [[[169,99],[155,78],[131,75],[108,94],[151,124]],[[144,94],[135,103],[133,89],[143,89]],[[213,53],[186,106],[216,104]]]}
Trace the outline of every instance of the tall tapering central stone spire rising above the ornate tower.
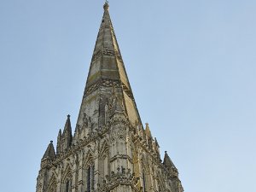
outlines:
{"label": "tall tapering central stone spire rising above the ornate tower", "polygon": [[105,109],[113,110],[111,103],[118,99],[130,122],[135,125],[136,121],[141,122],[141,119],[113,31],[108,2],[104,4],[103,9],[77,124],[83,125],[83,116],[86,113],[94,127],[104,125],[107,117]]}

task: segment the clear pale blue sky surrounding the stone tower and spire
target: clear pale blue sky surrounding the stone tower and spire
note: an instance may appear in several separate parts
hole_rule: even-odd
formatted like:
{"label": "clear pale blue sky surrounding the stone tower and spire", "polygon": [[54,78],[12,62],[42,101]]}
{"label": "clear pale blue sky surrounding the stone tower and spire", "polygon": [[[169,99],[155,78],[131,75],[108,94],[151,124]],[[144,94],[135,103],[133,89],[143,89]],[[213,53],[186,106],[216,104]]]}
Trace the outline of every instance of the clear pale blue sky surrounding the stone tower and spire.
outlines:
{"label": "clear pale blue sky surrounding the stone tower and spire", "polygon": [[[2,192],[33,192],[73,127],[104,1],[0,1]],[[256,1],[111,0],[143,122],[188,192],[256,191]]]}

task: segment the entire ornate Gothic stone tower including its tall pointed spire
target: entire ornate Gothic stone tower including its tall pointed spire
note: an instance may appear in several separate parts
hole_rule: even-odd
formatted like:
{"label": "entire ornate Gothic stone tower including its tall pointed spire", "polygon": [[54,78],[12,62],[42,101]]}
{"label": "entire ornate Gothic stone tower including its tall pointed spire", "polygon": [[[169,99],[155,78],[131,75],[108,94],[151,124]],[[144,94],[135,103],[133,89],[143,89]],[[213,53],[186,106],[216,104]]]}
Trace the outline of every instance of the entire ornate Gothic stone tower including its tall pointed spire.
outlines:
{"label": "entire ornate Gothic stone tower including its tall pointed spire", "polygon": [[143,127],[105,3],[74,134],[51,141],[36,192],[183,192],[177,168]]}

